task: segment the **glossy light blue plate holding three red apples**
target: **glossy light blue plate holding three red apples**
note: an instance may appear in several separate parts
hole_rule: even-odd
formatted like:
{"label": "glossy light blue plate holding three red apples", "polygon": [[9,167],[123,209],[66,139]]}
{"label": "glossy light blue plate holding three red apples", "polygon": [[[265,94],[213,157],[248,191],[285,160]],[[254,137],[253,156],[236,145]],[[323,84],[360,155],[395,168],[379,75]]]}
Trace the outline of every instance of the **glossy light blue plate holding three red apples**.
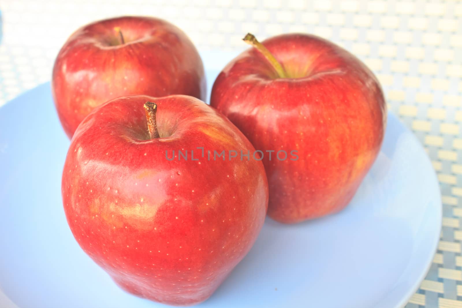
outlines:
{"label": "glossy light blue plate holding three red apples", "polygon": [[[74,240],[61,204],[68,145],[49,83],[0,109],[0,307],[165,307],[120,290]],[[267,218],[199,307],[402,307],[432,262],[441,216],[425,151],[389,114],[382,151],[351,204],[297,225]]]}

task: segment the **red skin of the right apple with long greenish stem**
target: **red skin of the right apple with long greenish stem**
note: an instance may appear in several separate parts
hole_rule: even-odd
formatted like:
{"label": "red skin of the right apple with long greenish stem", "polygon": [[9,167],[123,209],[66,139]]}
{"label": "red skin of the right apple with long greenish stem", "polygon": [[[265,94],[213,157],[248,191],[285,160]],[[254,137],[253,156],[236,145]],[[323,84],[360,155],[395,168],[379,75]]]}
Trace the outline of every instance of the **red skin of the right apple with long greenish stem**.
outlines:
{"label": "red skin of the right apple with long greenish stem", "polygon": [[[373,73],[352,54],[306,34],[262,42],[285,67],[279,78],[255,48],[225,66],[211,105],[257,150],[298,151],[299,159],[263,163],[268,215],[298,223],[343,209],[378,155],[386,104]],[[284,157],[281,153],[281,157]]]}

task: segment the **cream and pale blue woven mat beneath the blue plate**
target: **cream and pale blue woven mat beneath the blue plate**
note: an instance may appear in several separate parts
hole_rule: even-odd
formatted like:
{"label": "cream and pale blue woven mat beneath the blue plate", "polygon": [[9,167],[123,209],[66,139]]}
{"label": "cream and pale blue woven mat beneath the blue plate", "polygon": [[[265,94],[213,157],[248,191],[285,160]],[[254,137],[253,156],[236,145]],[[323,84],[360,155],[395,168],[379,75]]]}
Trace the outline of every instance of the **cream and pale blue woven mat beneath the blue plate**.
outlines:
{"label": "cream and pale blue woven mat beneath the blue plate", "polygon": [[167,19],[200,50],[243,50],[247,32],[261,40],[314,33],[350,50],[375,72],[389,109],[424,145],[441,187],[438,251],[405,307],[462,308],[461,1],[2,0],[0,9],[0,106],[50,79],[55,55],[79,26],[118,15]]}

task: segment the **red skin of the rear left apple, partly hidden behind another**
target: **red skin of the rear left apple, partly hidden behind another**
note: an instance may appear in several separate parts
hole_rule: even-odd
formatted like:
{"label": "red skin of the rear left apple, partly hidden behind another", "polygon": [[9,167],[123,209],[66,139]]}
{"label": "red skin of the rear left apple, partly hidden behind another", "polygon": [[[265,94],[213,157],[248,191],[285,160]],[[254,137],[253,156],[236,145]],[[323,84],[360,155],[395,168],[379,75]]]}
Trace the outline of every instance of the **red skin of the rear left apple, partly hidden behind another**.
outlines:
{"label": "red skin of the rear left apple, partly hidden behind another", "polygon": [[151,17],[111,18],[74,32],[55,60],[51,86],[69,138],[92,109],[116,97],[206,97],[204,66],[193,43],[173,24]]}

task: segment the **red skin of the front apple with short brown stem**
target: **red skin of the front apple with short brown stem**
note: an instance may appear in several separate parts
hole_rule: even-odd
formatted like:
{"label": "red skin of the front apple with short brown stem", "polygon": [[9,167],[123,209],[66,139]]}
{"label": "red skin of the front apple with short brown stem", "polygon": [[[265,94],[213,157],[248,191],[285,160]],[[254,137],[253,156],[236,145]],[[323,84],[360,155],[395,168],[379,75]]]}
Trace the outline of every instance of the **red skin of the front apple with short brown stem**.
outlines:
{"label": "red skin of the front apple with short brown stem", "polygon": [[[159,139],[149,139],[146,101],[158,105]],[[165,157],[198,146],[198,161]],[[202,302],[255,242],[268,202],[263,164],[208,161],[207,149],[255,151],[225,116],[182,95],[117,98],[77,128],[62,176],[67,222],[123,290],[170,305]]]}

